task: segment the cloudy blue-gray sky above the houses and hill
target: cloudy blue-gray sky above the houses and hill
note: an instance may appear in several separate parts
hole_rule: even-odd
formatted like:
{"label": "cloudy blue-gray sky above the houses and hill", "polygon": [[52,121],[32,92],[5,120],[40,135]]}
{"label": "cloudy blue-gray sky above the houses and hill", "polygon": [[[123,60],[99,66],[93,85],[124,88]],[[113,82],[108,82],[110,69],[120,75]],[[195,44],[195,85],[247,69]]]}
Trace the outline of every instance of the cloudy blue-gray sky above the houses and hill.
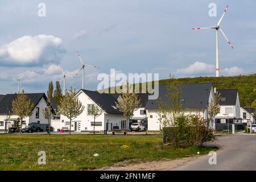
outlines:
{"label": "cloudy blue-gray sky above the houses and hill", "polygon": [[[46,5],[46,16],[40,3]],[[209,16],[215,3],[216,17]],[[219,35],[220,75],[256,71],[256,2],[170,0],[1,0],[0,94],[18,92],[22,78],[27,93],[46,92],[49,81],[61,81],[84,64],[85,89],[96,90],[100,73],[159,73],[159,78],[214,76],[214,30],[229,5]],[[66,88],[81,89],[82,74],[67,77]]]}

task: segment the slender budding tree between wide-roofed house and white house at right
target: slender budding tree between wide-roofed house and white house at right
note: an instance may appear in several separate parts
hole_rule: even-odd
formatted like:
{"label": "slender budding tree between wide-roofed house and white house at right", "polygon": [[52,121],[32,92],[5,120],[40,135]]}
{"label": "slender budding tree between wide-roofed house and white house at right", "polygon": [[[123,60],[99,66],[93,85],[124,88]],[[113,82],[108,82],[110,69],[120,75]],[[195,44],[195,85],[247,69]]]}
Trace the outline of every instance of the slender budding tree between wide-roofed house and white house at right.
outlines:
{"label": "slender budding tree between wide-roofed house and white house at right", "polygon": [[[221,100],[221,94],[216,92],[214,93],[214,98],[212,101],[210,101],[209,107],[208,107],[208,115],[209,115],[209,121],[213,123],[213,129],[216,130],[216,122],[213,121],[213,118],[220,113],[220,100]],[[209,127],[209,122],[208,122]]]}

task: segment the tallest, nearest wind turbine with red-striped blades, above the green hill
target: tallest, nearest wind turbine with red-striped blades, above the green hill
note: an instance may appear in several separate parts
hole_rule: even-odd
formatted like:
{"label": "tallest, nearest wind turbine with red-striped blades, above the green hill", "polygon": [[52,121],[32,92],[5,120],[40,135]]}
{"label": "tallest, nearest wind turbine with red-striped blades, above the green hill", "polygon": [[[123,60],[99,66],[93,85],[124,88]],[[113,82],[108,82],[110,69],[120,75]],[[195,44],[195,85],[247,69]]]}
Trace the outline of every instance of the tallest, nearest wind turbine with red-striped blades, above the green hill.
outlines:
{"label": "tallest, nearest wind turbine with red-striped blades, above the green hill", "polygon": [[217,25],[215,27],[192,28],[192,30],[201,30],[201,29],[214,29],[214,30],[216,30],[216,77],[220,76],[220,69],[218,67],[218,30],[220,30],[221,34],[228,41],[230,47],[232,49],[234,48],[232,46],[232,44],[230,43],[230,41],[228,40],[228,38],[226,38],[226,35],[225,35],[224,31],[221,30],[221,28],[220,28],[220,24],[222,22],[222,19],[224,18],[224,15],[225,15],[227,9],[228,9],[228,6],[226,6],[226,8],[224,10],[224,13],[222,14],[220,20],[218,21],[218,23],[217,23]]}

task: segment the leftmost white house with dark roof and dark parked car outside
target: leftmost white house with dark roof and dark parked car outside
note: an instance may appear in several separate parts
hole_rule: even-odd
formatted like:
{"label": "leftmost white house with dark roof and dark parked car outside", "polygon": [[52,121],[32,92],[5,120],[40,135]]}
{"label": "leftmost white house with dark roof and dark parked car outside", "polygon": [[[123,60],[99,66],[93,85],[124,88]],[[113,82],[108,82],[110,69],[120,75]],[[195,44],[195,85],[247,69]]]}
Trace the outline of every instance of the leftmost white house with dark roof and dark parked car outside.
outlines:
{"label": "leftmost white house with dark roof and dark parked car outside", "polygon": [[[16,99],[18,94],[6,94],[6,96],[1,96],[0,101],[0,131],[9,129],[9,127],[16,127],[18,123],[18,115],[13,113],[10,118],[7,117],[7,113],[13,112],[12,102]],[[29,123],[40,123],[43,130],[46,130],[48,124],[48,119],[43,117],[40,110],[47,107],[47,97],[44,93],[28,93],[27,97],[30,98],[31,102],[34,103],[34,108],[32,109],[32,115],[26,117],[22,121],[22,128],[27,126]],[[7,122],[6,122],[7,121]]]}

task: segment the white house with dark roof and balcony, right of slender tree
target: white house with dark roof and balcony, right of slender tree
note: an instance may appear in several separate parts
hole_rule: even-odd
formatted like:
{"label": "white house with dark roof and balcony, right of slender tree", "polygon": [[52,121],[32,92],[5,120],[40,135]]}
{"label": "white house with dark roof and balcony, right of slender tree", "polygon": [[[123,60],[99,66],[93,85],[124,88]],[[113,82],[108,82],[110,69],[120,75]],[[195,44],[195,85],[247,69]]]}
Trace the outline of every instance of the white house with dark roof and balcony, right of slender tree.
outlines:
{"label": "white house with dark roof and balcony, right of slender tree", "polygon": [[215,117],[216,125],[242,123],[238,89],[218,89],[217,92],[221,94],[221,109]]}

